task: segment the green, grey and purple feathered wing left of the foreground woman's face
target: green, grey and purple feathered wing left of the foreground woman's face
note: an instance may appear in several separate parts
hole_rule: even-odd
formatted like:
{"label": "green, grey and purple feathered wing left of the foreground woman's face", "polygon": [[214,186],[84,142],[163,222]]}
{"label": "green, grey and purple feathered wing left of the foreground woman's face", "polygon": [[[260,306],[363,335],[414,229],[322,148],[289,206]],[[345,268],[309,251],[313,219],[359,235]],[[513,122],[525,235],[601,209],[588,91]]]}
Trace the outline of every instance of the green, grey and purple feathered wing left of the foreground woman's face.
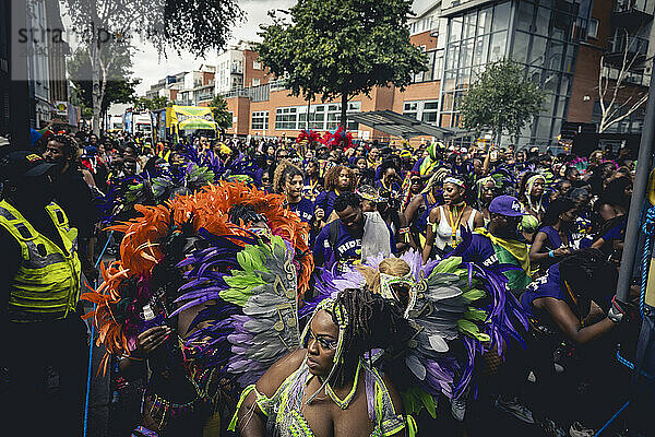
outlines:
{"label": "green, grey and purple feathered wing left of the foreground woman's face", "polygon": [[[217,258],[217,262],[223,258],[221,253],[209,256]],[[219,300],[200,311],[192,327],[199,321],[215,322],[195,331],[187,341],[193,344],[205,339],[211,350],[229,346],[222,373],[236,378],[245,388],[300,345],[298,279],[293,263],[294,249],[278,236],[270,244],[247,245],[237,252],[236,260],[237,265],[222,274],[219,281],[216,277],[210,281],[207,273],[213,272],[206,269],[199,272],[178,302],[187,302],[181,310],[209,299]],[[212,259],[206,261],[205,264],[213,264]],[[227,317],[216,317],[218,311]]]}

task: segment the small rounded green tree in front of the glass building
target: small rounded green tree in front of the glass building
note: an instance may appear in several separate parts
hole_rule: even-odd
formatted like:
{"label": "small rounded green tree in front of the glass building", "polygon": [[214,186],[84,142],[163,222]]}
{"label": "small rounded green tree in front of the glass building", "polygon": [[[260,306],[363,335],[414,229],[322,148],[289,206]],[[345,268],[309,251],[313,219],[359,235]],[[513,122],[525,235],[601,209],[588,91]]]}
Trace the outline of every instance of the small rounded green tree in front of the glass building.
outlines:
{"label": "small rounded green tree in front of the glass building", "polygon": [[503,132],[519,135],[541,111],[545,95],[511,59],[489,63],[471,85],[461,104],[462,125],[491,131],[499,144]]}

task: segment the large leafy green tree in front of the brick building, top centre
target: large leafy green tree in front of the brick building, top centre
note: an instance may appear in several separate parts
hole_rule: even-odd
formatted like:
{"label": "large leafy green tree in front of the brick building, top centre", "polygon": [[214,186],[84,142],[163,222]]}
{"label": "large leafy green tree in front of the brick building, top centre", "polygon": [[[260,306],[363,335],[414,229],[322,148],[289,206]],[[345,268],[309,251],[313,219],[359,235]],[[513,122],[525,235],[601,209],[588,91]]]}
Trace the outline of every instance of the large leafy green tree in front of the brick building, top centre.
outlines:
{"label": "large leafy green tree in front of the brick building, top centre", "polygon": [[[299,0],[285,19],[262,26],[257,50],[262,63],[284,78],[291,94],[323,102],[341,96],[341,125],[348,99],[374,86],[401,90],[427,70],[409,43],[407,0]],[[283,11],[284,12],[284,11]]]}

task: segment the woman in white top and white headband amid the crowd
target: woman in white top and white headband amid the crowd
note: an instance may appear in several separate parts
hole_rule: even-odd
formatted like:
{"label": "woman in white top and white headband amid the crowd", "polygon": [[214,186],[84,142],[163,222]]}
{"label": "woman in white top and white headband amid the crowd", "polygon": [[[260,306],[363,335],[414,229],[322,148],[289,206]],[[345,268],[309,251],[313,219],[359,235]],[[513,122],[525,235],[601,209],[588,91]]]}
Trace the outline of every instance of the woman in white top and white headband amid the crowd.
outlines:
{"label": "woman in white top and white headband amid the crowd", "polygon": [[483,214],[464,201],[466,187],[460,178],[450,176],[443,181],[445,204],[430,211],[426,245],[422,249],[424,262],[436,253],[448,253],[462,240],[460,227],[473,231],[485,225]]}

